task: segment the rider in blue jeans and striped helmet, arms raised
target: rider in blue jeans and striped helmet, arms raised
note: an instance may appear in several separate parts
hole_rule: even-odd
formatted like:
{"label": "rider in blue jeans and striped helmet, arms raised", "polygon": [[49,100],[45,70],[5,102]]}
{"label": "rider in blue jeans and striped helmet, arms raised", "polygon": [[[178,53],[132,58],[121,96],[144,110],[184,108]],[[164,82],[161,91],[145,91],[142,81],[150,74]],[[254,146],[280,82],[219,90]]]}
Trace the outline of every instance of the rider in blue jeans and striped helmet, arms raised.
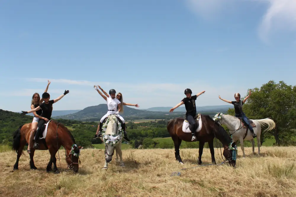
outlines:
{"label": "rider in blue jeans and striped helmet, arms raised", "polygon": [[235,117],[237,118],[242,118],[244,120],[244,122],[247,124],[248,128],[250,129],[250,131],[252,132],[252,136],[253,138],[257,137],[256,134],[254,133],[253,127],[250,125],[249,123],[249,118],[246,116],[246,114],[242,111],[242,105],[244,105],[244,103],[246,102],[246,100],[251,96],[251,91],[249,92],[249,95],[242,101],[240,100],[240,94],[239,93],[235,93],[234,94],[234,98],[235,101],[229,101],[229,100],[225,100],[222,99],[219,95],[219,99],[228,102],[232,105],[234,105],[234,111],[235,111]]}

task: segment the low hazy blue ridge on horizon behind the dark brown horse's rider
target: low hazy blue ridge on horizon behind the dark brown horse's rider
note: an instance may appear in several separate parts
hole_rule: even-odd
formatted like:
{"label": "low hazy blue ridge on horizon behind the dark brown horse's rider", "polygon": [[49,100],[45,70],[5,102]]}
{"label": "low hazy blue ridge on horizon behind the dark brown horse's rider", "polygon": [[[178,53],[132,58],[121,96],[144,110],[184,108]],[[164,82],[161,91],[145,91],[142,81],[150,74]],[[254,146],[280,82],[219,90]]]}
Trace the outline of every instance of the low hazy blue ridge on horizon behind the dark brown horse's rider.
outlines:
{"label": "low hazy blue ridge on horizon behind the dark brown horse's rider", "polygon": [[[173,107],[153,107],[148,109],[143,109],[147,111],[159,111],[159,112],[168,112]],[[202,111],[219,111],[219,110],[228,110],[229,108],[233,108],[233,105],[213,105],[213,106],[202,106],[196,107],[197,113]],[[186,112],[185,107],[178,107],[174,110],[174,112]]]}

